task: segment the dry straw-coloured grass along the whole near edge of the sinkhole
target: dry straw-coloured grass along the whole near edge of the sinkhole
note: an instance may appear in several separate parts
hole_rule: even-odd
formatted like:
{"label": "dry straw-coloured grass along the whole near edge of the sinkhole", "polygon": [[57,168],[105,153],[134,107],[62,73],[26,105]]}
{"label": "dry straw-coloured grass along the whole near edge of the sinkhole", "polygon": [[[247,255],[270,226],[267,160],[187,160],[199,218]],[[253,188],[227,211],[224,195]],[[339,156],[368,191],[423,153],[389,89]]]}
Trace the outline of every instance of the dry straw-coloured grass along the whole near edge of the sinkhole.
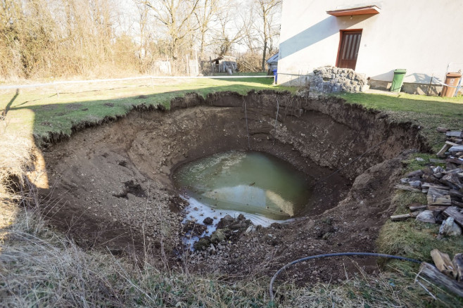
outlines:
{"label": "dry straw-coloured grass along the whole near edge of the sinkhole", "polygon": [[[30,200],[37,200],[31,197]],[[32,203],[31,203],[32,204]],[[39,204],[37,203],[37,206]],[[16,207],[16,209],[18,209]],[[198,276],[154,267],[144,256],[114,257],[83,251],[47,226],[37,208],[16,210],[13,224],[1,226],[1,307],[457,307],[445,292],[414,283],[416,269],[355,276],[339,284],[318,283],[305,288],[292,281],[275,286],[270,302],[269,278]],[[400,263],[400,264],[399,264]],[[310,283],[310,281],[307,281]]]}

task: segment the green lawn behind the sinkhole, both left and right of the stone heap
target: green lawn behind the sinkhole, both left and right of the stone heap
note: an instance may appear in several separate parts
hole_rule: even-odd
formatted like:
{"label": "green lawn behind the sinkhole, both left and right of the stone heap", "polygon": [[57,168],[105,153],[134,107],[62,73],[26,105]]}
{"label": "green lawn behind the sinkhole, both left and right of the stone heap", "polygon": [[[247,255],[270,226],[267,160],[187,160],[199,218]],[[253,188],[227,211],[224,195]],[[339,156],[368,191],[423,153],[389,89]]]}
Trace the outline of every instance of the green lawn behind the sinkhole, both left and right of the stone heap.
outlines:
{"label": "green lawn behind the sinkhole, both left and right of the stone heap", "polygon": [[[21,132],[39,139],[49,133],[69,135],[79,122],[99,122],[104,117],[125,115],[134,105],[165,105],[170,100],[195,91],[202,96],[217,91],[274,89],[296,91],[296,88],[274,86],[265,73],[256,78],[216,79],[140,79],[94,84],[61,84],[37,89],[0,92],[0,110],[6,110],[4,126],[10,132]],[[57,95],[59,93],[59,96]],[[443,134],[436,127],[463,128],[463,97],[440,98],[399,94],[340,94],[348,103],[358,103],[387,113],[393,120],[410,121],[422,128],[422,133],[436,150],[443,143]]]}

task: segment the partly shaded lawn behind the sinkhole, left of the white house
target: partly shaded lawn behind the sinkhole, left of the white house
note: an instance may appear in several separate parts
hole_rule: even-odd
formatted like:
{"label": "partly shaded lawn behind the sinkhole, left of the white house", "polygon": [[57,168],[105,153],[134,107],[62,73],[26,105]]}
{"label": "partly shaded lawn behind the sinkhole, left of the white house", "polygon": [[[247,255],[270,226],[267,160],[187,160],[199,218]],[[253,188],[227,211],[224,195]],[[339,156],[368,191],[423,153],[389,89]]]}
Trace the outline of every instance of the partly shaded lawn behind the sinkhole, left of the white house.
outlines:
{"label": "partly shaded lawn behind the sinkhole, left of the white house", "polygon": [[[274,86],[272,78],[246,79],[150,79],[97,84],[65,84],[58,88],[4,91],[0,110],[6,110],[8,131],[39,139],[49,133],[69,135],[78,122],[99,122],[104,117],[125,115],[134,105],[165,105],[177,96],[195,91],[202,96],[217,91],[290,90]],[[57,95],[59,93],[59,96]]]}

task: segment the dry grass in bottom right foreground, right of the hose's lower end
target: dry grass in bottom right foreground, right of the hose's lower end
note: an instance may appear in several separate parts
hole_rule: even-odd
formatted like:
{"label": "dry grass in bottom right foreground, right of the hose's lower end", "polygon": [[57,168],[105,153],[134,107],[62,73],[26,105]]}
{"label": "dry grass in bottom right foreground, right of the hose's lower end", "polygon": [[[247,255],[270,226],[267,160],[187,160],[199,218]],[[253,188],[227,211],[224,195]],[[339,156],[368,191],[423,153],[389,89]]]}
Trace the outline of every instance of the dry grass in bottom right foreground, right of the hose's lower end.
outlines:
{"label": "dry grass in bottom right foreground, right of the hose's lower end", "polygon": [[[294,288],[288,292],[281,307],[459,307],[456,297],[426,285],[426,290],[415,281],[416,272],[398,271],[396,264],[387,272],[366,274],[360,267],[359,274],[347,277],[340,284],[319,283],[312,288]],[[436,291],[440,293],[436,293]],[[436,299],[431,294],[438,294]]]}

